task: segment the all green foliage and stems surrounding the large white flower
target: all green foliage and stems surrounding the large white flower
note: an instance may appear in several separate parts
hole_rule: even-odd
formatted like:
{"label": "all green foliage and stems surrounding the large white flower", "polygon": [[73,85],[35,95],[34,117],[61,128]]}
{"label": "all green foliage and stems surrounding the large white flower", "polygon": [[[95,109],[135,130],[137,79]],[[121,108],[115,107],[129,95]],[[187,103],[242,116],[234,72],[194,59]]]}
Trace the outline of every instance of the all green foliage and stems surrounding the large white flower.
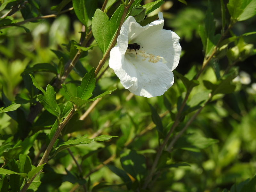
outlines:
{"label": "all green foliage and stems surrounding the large white flower", "polygon": [[[0,192],[255,191],[255,0],[103,2],[0,0]],[[182,54],[144,98],[106,57],[158,10]]]}

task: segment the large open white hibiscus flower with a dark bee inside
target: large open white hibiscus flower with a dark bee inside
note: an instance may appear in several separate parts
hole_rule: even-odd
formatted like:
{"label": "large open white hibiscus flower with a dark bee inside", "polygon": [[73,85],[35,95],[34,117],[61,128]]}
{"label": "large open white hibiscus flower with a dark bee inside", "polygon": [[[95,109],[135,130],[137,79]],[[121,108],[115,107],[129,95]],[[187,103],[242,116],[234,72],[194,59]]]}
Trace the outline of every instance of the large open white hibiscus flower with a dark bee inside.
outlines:
{"label": "large open white hibiscus flower with a dark bee inside", "polygon": [[[109,67],[114,69],[121,84],[143,97],[163,95],[174,83],[172,71],[180,60],[180,37],[163,29],[163,13],[159,12],[158,17],[159,20],[144,27],[128,17],[117,45],[110,52]],[[128,44],[135,43],[140,49],[127,49]]]}

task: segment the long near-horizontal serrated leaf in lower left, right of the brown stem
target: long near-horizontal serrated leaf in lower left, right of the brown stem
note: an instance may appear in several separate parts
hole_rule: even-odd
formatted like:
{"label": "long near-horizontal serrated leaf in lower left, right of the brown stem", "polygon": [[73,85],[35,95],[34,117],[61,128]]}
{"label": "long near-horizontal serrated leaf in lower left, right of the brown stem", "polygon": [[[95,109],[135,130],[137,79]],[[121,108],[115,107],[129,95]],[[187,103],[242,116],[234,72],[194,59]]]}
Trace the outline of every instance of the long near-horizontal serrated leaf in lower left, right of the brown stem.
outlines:
{"label": "long near-horizontal serrated leaf in lower left, right of the brown stem", "polygon": [[95,141],[95,139],[87,139],[88,135],[84,135],[78,139],[75,140],[68,140],[66,142],[60,143],[60,145],[58,147],[56,147],[56,153],[59,153],[60,151],[76,146],[76,145],[85,145],[85,144],[89,144],[92,143],[93,141]]}

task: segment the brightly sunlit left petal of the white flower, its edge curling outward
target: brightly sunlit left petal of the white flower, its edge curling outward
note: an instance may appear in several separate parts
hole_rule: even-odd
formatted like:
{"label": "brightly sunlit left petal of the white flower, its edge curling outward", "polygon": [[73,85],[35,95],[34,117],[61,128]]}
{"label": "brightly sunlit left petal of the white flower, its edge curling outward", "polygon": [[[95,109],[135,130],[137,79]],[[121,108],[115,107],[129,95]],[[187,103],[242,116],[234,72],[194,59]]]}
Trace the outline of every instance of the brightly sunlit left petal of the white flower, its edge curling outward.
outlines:
{"label": "brightly sunlit left petal of the white flower, its edge curling outward", "polygon": [[115,46],[110,51],[109,67],[114,69],[125,89],[137,84],[137,73],[133,65],[124,60],[124,54]]}

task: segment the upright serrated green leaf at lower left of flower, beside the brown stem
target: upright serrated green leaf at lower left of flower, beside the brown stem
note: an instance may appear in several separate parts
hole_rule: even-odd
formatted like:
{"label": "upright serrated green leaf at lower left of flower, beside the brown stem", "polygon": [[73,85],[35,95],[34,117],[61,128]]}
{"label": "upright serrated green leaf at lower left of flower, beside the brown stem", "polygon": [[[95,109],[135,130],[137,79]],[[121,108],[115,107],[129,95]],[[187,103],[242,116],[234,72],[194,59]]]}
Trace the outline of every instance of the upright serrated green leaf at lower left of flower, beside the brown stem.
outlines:
{"label": "upright serrated green leaf at lower left of flower, beside the brown stem", "polygon": [[81,98],[83,100],[87,100],[92,97],[92,92],[95,88],[95,75],[94,75],[94,68],[91,69],[89,73],[84,75],[82,78],[81,86],[76,88],[76,97]]}

